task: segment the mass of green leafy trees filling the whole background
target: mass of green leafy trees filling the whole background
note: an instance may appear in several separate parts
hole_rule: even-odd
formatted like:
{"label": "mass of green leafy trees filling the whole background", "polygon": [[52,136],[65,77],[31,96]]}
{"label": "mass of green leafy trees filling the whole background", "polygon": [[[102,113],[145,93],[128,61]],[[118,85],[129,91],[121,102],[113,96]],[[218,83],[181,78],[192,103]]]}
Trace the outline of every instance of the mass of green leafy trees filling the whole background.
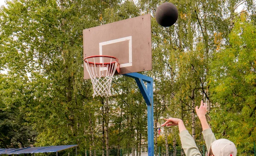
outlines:
{"label": "mass of green leafy trees filling the whole background", "polygon": [[[82,30],[151,14],[154,129],[163,117],[195,127],[194,106],[203,98],[217,138],[244,149],[255,142],[255,3],[239,0],[172,0],[177,23],[164,28],[154,13],[157,0],[12,0],[0,9],[0,146],[79,144],[80,150],[135,148],[147,140],[147,108],[136,82],[115,76],[109,116],[104,98],[92,98],[83,80]],[[196,116],[195,116],[196,118]],[[178,130],[168,129],[169,145]],[[104,136],[103,136],[104,134]],[[35,136],[37,136],[35,138]],[[34,142],[36,141],[36,142]],[[158,138],[157,146],[164,140]]]}

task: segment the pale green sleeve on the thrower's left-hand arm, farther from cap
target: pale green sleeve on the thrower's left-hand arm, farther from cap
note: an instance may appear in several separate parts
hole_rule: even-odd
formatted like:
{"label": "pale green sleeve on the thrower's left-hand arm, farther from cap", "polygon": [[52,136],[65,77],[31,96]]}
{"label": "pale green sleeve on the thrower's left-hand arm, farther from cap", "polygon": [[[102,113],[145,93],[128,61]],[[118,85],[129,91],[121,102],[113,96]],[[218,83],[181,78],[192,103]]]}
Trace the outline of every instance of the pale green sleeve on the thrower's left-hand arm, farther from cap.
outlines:
{"label": "pale green sleeve on the thrower's left-hand arm, farther from cap", "polygon": [[195,144],[195,140],[187,130],[180,132],[180,141],[186,156],[201,156],[201,153]]}

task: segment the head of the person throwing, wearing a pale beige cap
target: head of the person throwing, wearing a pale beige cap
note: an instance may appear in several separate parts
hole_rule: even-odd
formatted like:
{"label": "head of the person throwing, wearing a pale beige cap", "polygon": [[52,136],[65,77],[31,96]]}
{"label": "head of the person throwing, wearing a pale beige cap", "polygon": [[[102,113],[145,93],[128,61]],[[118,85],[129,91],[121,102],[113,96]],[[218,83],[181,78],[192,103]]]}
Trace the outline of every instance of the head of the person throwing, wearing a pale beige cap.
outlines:
{"label": "head of the person throwing, wearing a pale beige cap", "polygon": [[236,145],[227,139],[212,142],[208,156],[236,156]]}

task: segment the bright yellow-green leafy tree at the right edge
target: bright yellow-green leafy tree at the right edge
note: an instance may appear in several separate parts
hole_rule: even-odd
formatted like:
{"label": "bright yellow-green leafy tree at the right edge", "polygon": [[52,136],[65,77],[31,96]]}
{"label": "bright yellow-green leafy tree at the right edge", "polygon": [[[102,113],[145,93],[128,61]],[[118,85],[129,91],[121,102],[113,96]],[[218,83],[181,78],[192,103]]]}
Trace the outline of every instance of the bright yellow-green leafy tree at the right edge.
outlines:
{"label": "bright yellow-green leafy tree at the right edge", "polygon": [[[230,138],[247,150],[255,142],[256,28],[241,14],[229,35],[230,44],[212,62],[211,113],[216,136]],[[220,126],[221,125],[221,126]]]}

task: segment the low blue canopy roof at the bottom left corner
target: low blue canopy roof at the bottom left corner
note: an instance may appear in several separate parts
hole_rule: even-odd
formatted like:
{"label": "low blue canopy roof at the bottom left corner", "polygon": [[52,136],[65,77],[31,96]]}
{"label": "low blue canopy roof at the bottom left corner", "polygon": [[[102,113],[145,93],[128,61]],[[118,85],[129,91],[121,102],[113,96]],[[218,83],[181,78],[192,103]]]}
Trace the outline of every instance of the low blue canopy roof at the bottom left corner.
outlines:
{"label": "low blue canopy roof at the bottom left corner", "polygon": [[0,154],[33,154],[33,153],[50,153],[57,152],[61,150],[66,150],[68,148],[76,147],[74,145],[62,145],[62,146],[47,146],[47,147],[26,147],[26,148],[9,148],[9,149],[0,149]]}

